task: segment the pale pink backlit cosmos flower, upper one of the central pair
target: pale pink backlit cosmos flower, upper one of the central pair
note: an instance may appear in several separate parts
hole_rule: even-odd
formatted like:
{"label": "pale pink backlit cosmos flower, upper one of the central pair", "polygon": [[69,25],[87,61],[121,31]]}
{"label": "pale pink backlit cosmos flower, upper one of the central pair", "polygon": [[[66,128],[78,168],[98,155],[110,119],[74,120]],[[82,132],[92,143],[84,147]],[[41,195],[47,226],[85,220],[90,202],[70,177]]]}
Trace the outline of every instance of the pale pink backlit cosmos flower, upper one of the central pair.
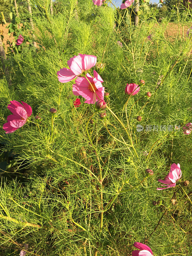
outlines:
{"label": "pale pink backlit cosmos flower, upper one of the central pair", "polygon": [[97,57],[93,55],[79,54],[68,60],[69,68],[61,68],[57,72],[58,79],[61,83],[67,83],[78,75],[81,75],[85,70],[95,66]]}

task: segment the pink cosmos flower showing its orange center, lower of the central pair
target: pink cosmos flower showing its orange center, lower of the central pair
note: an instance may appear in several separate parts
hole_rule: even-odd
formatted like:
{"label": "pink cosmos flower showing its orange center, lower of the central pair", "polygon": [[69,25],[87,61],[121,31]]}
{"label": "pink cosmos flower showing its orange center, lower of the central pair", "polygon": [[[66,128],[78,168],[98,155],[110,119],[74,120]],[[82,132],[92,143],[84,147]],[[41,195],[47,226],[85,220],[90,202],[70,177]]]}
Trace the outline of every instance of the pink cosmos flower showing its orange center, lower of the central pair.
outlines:
{"label": "pink cosmos flower showing its orange center, lower of the central pair", "polygon": [[[103,79],[100,75],[94,70],[93,71],[94,77],[90,76],[89,73],[86,74],[86,77],[80,77],[76,79],[76,84],[73,84],[73,94],[76,96],[81,95],[84,97],[85,103],[94,104],[95,101],[101,99],[104,100],[104,89],[105,87],[102,86]],[[93,88],[92,88],[93,87]],[[94,89],[94,91],[93,91]]]}

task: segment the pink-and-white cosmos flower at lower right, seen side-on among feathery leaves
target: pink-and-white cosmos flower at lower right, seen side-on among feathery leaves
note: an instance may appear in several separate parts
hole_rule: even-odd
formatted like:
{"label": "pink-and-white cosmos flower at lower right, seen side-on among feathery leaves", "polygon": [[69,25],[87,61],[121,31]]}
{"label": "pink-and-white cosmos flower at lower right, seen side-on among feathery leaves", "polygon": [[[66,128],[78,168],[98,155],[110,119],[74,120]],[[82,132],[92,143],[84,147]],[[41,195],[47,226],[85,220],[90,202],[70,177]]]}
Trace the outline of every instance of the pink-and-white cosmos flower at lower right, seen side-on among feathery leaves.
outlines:
{"label": "pink-and-white cosmos flower at lower right, seen side-on among feathery leaves", "polygon": [[158,180],[159,182],[165,184],[162,186],[165,186],[164,188],[157,188],[157,190],[162,190],[165,188],[171,188],[175,187],[176,181],[180,179],[181,177],[181,169],[180,164],[172,164],[169,174],[164,178],[164,180]]}

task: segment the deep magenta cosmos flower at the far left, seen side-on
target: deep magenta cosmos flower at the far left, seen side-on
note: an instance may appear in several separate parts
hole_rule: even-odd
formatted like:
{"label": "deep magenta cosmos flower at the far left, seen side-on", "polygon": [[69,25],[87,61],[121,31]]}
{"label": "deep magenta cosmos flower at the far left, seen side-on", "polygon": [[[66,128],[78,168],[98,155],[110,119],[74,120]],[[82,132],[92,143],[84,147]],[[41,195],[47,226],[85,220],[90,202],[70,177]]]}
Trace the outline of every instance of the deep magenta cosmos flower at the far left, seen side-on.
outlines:
{"label": "deep magenta cosmos flower at the far left, seen side-on", "polygon": [[7,108],[13,115],[7,116],[7,123],[3,125],[5,133],[12,133],[22,127],[32,114],[31,106],[27,103],[21,101],[22,105],[16,100],[11,100],[10,103]]}

